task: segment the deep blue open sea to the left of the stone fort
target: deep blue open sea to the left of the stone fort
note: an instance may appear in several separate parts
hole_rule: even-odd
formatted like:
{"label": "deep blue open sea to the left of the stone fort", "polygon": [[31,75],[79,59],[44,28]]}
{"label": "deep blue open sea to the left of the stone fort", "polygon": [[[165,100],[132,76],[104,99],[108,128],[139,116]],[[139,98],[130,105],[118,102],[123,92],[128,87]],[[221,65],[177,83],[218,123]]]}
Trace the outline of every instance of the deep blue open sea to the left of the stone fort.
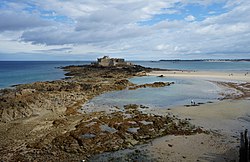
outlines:
{"label": "deep blue open sea to the left of the stone fort", "polygon": [[89,64],[87,61],[0,61],[0,88],[11,85],[64,78],[57,67]]}

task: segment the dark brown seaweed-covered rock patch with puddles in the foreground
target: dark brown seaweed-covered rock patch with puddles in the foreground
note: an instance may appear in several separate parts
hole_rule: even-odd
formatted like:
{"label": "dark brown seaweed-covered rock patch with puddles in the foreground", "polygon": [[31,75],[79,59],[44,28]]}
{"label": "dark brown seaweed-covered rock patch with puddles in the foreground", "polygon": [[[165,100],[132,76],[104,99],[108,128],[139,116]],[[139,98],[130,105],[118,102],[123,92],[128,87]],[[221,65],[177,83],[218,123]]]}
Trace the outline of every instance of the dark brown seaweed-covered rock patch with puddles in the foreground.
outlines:
{"label": "dark brown seaweed-covered rock patch with puddles in the foreground", "polygon": [[204,132],[186,121],[142,113],[135,104],[125,105],[124,109],[111,114],[89,114],[91,118],[86,117],[74,130],[56,137],[52,144],[65,152],[87,156],[129,148],[163,135]]}

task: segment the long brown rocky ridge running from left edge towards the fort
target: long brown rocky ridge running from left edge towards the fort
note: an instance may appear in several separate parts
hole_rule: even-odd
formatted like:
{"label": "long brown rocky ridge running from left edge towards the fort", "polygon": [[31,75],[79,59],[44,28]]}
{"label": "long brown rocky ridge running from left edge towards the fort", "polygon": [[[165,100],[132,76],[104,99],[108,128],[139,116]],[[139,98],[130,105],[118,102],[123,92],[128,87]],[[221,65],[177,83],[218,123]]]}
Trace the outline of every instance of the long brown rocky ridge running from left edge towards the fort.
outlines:
{"label": "long brown rocky ridge running from left edge towards the fort", "polygon": [[[150,71],[141,66],[98,67],[68,66],[71,76],[64,80],[35,82],[1,90],[0,121],[8,122],[38,115],[41,111],[64,112],[76,103],[83,104],[101,93],[133,85],[127,78]],[[80,104],[79,104],[80,106]]]}

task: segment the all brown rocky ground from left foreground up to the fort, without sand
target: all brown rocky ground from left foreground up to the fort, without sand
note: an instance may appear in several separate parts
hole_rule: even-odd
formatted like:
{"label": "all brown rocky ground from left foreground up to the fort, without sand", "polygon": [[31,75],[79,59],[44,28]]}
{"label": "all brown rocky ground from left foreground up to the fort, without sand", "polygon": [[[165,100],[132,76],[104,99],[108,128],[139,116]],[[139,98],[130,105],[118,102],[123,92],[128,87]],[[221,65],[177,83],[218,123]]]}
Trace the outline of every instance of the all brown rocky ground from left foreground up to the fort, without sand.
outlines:
{"label": "all brown rocky ground from left foreground up to the fort, without sand", "polygon": [[137,105],[111,114],[77,110],[108,91],[162,87],[171,83],[134,85],[142,66],[63,67],[67,78],[17,85],[0,92],[0,155],[3,161],[79,161],[93,154],[132,147],[167,134],[202,130],[170,116],[145,114]]}

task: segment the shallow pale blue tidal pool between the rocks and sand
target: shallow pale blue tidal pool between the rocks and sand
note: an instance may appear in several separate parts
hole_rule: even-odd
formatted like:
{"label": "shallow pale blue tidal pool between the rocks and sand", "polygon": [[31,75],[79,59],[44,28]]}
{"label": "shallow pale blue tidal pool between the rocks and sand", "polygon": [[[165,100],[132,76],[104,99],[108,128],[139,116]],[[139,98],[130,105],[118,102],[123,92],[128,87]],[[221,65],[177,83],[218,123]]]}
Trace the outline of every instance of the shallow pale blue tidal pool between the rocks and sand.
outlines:
{"label": "shallow pale blue tidal pool between the rocks and sand", "polygon": [[189,105],[191,100],[196,103],[216,101],[222,97],[223,90],[206,80],[180,79],[174,77],[159,78],[155,76],[135,77],[130,80],[136,84],[153,83],[156,81],[175,82],[161,88],[141,88],[137,90],[122,90],[102,94],[90,100],[88,107],[122,107],[126,104],[140,104],[149,107],[166,108],[177,105]]}

